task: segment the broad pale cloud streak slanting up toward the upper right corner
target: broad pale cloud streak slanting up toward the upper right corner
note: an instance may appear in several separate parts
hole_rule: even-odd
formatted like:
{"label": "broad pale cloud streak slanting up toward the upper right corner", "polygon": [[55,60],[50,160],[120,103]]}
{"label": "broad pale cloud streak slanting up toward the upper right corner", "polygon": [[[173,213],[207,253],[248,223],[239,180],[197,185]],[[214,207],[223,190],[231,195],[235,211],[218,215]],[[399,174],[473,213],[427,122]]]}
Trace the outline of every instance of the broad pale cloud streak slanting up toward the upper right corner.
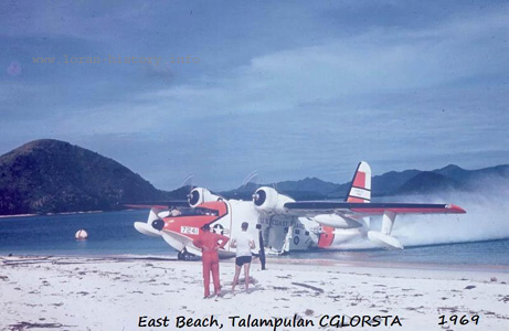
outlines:
{"label": "broad pale cloud streak slanting up toward the upper right corner", "polygon": [[[190,113],[274,111],[303,104],[456,84],[507,74],[502,13],[456,19],[423,30],[375,29],[351,38],[252,58],[226,75],[147,93]],[[467,33],[465,33],[467,31]],[[494,34],[497,41],[490,41]],[[499,54],[499,55],[494,55]],[[481,77],[483,79],[483,77]]]}

